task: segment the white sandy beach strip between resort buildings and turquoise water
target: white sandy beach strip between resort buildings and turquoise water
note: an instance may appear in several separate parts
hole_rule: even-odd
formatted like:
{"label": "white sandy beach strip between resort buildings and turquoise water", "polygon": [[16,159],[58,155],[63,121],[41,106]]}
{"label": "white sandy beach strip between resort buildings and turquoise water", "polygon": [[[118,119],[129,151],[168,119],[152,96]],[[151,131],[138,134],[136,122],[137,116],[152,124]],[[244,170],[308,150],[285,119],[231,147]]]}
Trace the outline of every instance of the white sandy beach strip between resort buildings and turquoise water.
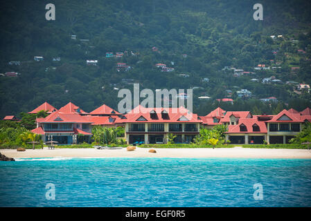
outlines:
{"label": "white sandy beach strip between resort buildings and turquoise water", "polygon": [[311,159],[311,151],[305,149],[268,149],[268,148],[154,148],[157,153],[149,153],[150,148],[126,148],[116,150],[97,150],[95,148],[55,148],[49,150],[3,149],[0,153],[7,157],[242,157],[242,158],[292,158]]}

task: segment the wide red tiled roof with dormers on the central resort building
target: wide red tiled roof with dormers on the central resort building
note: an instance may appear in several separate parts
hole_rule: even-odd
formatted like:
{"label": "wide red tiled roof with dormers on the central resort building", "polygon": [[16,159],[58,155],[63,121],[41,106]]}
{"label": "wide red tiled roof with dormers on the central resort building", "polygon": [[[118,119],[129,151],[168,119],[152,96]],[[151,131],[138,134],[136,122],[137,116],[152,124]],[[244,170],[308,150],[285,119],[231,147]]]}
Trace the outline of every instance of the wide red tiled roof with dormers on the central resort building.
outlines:
{"label": "wide red tiled roof with dormers on the central resort building", "polygon": [[[163,119],[161,116],[162,111],[168,113],[168,119]],[[150,112],[154,112],[154,119],[151,118]],[[165,123],[165,122],[188,122],[188,123],[202,123],[201,119],[197,119],[197,114],[190,113],[186,108],[180,107],[180,108],[144,108],[143,106],[136,106],[130,113],[127,113],[125,115],[126,119],[120,119],[119,122],[152,122],[152,123]],[[145,121],[139,121],[140,117],[144,117]],[[188,119],[188,120],[182,120]]]}

